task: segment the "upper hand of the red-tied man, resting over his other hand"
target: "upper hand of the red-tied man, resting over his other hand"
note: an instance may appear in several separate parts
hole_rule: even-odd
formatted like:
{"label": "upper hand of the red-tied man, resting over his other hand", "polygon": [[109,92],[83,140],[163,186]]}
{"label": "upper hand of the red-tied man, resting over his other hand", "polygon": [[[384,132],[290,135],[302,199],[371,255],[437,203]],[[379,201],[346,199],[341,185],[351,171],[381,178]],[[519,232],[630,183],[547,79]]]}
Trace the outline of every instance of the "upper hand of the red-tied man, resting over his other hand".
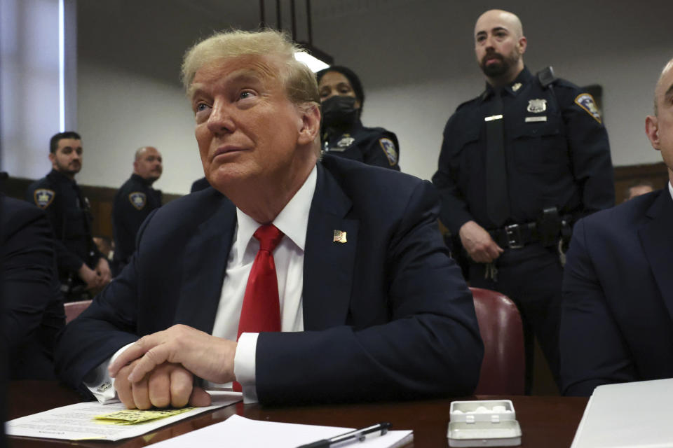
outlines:
{"label": "upper hand of the red-tied man, resting over his other hand", "polygon": [[141,337],[108,368],[110,376],[116,377],[121,367],[140,358],[128,375],[131,382],[140,381],[157,365],[168,362],[182,364],[186,370],[205,380],[226,383],[236,379],[233,375],[235,355],[236,342],[187,325],[173,325],[168,330]]}

